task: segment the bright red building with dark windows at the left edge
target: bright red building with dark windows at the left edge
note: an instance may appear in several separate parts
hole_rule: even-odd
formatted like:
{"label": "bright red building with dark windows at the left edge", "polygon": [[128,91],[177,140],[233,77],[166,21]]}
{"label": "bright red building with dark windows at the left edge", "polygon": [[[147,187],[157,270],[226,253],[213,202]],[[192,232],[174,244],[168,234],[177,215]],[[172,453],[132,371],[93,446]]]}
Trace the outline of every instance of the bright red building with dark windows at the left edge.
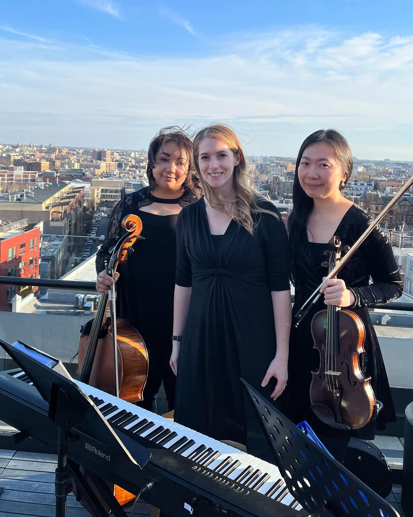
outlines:
{"label": "bright red building with dark windows at the left edge", "polygon": [[[39,278],[41,230],[27,218],[0,224],[0,276]],[[1,311],[11,311],[16,293],[15,285],[0,284]]]}

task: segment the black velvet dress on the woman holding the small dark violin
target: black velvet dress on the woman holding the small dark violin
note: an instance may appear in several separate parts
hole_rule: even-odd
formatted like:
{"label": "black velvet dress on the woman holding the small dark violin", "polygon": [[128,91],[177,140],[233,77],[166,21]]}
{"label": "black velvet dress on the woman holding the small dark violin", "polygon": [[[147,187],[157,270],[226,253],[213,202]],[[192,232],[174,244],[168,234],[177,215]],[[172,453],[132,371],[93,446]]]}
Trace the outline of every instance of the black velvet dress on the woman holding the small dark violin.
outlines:
{"label": "black velvet dress on the woman holding the small dark violin", "polygon": [[[371,219],[367,212],[353,205],[344,215],[335,235],[340,237],[343,245],[352,246],[367,229],[370,222]],[[321,430],[322,433],[329,434],[331,428],[324,426],[325,429],[322,429],[317,425],[320,421],[314,421],[309,397],[311,371],[318,370],[320,364],[319,353],[313,349],[310,324],[316,312],[326,309],[324,296],[320,297],[307,314],[306,319],[300,323],[297,329],[295,328],[295,314],[316,287],[321,284],[323,277],[327,276],[328,268],[321,265],[326,260],[323,252],[327,248],[326,244],[308,242],[306,239],[299,249],[294,250],[295,303],[290,334],[287,387],[290,409],[287,416],[294,423],[306,419],[310,421],[310,424],[315,424],[316,431],[320,432]],[[373,280],[371,284],[369,284],[370,277]],[[399,268],[387,237],[378,229],[373,230],[341,270],[338,278],[343,279],[347,288],[351,288],[355,295],[355,304],[349,309],[361,318],[366,329],[364,342],[366,352],[360,356],[360,366],[365,376],[371,376],[371,384],[376,399],[383,403],[383,409],[379,412],[377,421],[369,423],[366,427],[352,434],[373,439],[375,424],[378,429],[384,429],[386,422],[395,421],[394,406],[383,356],[368,311],[369,307],[382,305],[399,298],[403,292]],[[350,435],[348,438],[350,438]]]}

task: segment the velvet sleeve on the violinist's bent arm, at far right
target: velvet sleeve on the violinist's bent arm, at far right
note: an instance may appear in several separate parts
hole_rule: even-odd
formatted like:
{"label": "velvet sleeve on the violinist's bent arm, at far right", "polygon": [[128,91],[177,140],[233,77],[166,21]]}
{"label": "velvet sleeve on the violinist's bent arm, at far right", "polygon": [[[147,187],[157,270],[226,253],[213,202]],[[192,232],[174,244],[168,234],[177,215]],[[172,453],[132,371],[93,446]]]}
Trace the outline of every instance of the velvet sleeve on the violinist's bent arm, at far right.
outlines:
{"label": "velvet sleeve on the violinist's bent arm, at far right", "polygon": [[[368,220],[363,223],[367,229]],[[360,246],[364,266],[370,272],[373,283],[362,287],[351,287],[355,303],[352,307],[373,307],[384,305],[400,298],[403,282],[393,249],[387,236],[376,227]]]}

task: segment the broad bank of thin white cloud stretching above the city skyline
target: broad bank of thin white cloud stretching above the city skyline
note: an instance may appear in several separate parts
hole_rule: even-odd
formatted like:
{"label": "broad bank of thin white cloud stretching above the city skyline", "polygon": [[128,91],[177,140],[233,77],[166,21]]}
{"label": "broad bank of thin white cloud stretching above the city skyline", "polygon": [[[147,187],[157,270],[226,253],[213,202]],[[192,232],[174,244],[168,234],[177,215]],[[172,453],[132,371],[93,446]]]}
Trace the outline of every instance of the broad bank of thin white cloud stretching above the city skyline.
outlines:
{"label": "broad bank of thin white cloud stretching above the city skyline", "polygon": [[40,44],[2,40],[3,110],[25,115],[0,125],[0,141],[10,131],[23,140],[24,128],[29,141],[141,148],[162,125],[227,120],[250,126],[256,153],[293,154],[309,131],[333,126],[363,136],[359,156],[381,147],[413,158],[413,37],[300,27],[235,35],[187,58],[62,44],[39,53]]}

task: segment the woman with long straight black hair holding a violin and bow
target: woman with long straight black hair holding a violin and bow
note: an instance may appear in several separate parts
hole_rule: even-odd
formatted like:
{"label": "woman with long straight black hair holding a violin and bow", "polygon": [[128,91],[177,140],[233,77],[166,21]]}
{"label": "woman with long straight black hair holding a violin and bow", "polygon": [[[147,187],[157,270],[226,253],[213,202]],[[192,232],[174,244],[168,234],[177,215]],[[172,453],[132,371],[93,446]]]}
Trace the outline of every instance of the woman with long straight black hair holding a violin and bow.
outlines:
{"label": "woman with long straight black hair holding a violin and bow", "polygon": [[[327,276],[325,267],[330,239],[337,235],[342,245],[352,246],[371,222],[366,211],[347,200],[342,190],[350,179],[353,158],[347,140],[338,131],[328,129],[310,134],[300,147],[293,185],[293,211],[289,218],[288,263],[290,279],[295,286],[293,321],[315,288]],[[369,283],[370,277],[373,283]],[[403,292],[399,268],[385,235],[375,229],[344,266],[337,279],[322,288],[323,296],[315,303],[305,320],[291,331],[289,417],[298,423],[306,419],[319,434],[327,449],[340,461],[344,459],[349,431],[337,431],[322,423],[310,409],[311,372],[320,367],[319,353],[313,349],[311,320],[327,305],[350,308],[364,324],[366,352],[360,355],[361,370],[371,377],[376,399],[383,409],[358,431],[374,439],[375,424],[383,428],[395,420],[393,402],[380,346],[368,308],[399,298]],[[354,433],[353,433],[354,434]]]}

